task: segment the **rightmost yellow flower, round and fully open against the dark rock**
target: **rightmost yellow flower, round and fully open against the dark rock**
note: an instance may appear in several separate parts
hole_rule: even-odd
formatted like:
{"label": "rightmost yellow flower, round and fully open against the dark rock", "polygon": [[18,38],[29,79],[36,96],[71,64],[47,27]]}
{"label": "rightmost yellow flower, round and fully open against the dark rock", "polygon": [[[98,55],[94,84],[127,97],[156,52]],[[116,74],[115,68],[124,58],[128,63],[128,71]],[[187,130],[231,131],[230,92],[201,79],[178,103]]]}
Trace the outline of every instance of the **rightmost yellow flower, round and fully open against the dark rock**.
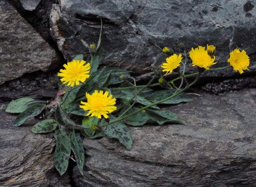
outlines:
{"label": "rightmost yellow flower, round and fully open against the dark rock", "polygon": [[235,71],[239,71],[240,74],[242,74],[243,70],[248,70],[249,61],[250,58],[248,55],[246,55],[246,52],[243,50],[242,52],[239,51],[238,48],[236,48],[234,51],[229,53],[230,58],[228,58],[228,62],[230,63],[230,66],[233,67]]}

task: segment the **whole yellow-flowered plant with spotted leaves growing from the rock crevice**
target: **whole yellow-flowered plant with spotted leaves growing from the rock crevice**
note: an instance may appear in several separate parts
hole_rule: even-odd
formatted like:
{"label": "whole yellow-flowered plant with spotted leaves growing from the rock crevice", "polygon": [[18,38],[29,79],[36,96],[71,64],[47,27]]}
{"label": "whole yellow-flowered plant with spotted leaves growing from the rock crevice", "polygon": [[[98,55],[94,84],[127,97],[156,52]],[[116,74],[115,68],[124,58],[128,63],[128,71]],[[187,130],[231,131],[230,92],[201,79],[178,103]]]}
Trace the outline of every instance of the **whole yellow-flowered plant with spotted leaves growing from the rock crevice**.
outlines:
{"label": "whole yellow-flowered plant with spotted leaves growing from the rock crevice", "polygon": [[[55,167],[60,175],[67,170],[71,151],[75,155],[78,169],[83,175],[85,161],[82,137],[97,138],[108,136],[117,138],[127,150],[132,148],[133,140],[127,125],[141,126],[148,123],[163,125],[164,123],[185,123],[171,111],[159,110],[158,104],[177,104],[192,99],[185,90],[196,84],[201,74],[210,70],[222,70],[232,66],[240,74],[248,70],[249,57],[243,50],[234,49],[223,68],[211,68],[215,62],[213,45],[207,48],[198,46],[187,54],[185,45],[179,43],[184,53],[177,54],[175,49],[156,45],[149,39],[149,44],[160,49],[165,56],[161,70],[153,67],[155,76],[146,85],[137,85],[129,71],[119,68],[98,68],[103,54],[103,28],[97,45],[90,45],[90,56],[83,60],[77,55],[60,69],[59,91],[54,101],[44,102],[29,97],[11,101],[6,112],[20,113],[14,126],[22,125],[26,119],[42,113],[44,120],[32,127],[34,133],[54,132],[56,149],[54,153]],[[193,74],[185,74],[188,58],[197,69]],[[178,73],[173,80],[165,80],[162,73]],[[190,83],[187,77],[196,76]],[[153,84],[158,79],[159,82]],[[180,80],[177,85],[177,80]],[[128,86],[127,86],[128,84]],[[153,86],[161,86],[165,90],[154,91]],[[47,103],[47,104],[42,104]]]}

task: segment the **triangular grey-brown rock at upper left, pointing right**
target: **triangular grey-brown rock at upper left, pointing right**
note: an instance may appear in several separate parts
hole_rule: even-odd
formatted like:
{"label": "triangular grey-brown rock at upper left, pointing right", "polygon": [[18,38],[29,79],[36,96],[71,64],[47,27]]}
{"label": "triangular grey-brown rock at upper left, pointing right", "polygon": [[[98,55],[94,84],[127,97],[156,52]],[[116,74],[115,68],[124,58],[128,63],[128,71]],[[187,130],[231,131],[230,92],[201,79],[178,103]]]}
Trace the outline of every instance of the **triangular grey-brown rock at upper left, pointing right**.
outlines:
{"label": "triangular grey-brown rock at upper left, pointing right", "polygon": [[0,1],[0,85],[24,73],[49,70],[55,50],[5,0]]}

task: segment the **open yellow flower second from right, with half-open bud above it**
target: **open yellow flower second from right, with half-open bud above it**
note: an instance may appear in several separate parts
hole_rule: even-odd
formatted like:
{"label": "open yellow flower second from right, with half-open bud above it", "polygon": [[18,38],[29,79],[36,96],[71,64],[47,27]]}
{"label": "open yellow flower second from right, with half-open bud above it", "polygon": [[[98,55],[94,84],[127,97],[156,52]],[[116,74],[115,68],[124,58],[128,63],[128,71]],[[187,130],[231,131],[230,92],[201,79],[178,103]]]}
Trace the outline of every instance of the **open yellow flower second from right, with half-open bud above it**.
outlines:
{"label": "open yellow flower second from right, with half-open bud above it", "polygon": [[192,59],[192,66],[198,66],[206,70],[208,70],[212,64],[217,63],[213,63],[215,56],[213,56],[213,58],[209,56],[207,51],[205,51],[205,47],[202,46],[198,46],[196,49],[192,48],[189,52],[189,57]]}

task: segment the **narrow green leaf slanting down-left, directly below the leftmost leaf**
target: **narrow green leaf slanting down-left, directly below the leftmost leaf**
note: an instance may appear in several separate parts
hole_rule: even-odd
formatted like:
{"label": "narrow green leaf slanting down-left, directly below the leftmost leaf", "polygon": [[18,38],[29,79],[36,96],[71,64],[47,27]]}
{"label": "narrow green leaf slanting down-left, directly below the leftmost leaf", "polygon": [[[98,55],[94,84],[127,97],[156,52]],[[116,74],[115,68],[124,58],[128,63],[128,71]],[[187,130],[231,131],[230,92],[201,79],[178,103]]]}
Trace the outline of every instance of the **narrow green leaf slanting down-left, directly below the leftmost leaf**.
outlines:
{"label": "narrow green leaf slanting down-left, directly below the leftmost leaf", "polygon": [[42,105],[42,104],[35,104],[35,105],[28,107],[25,111],[23,111],[22,113],[20,113],[17,116],[13,125],[20,126],[22,123],[24,123],[26,121],[26,119],[28,119],[30,117],[35,117],[38,114],[40,114],[42,112],[42,110],[44,109],[44,107],[45,107],[45,105]]}

